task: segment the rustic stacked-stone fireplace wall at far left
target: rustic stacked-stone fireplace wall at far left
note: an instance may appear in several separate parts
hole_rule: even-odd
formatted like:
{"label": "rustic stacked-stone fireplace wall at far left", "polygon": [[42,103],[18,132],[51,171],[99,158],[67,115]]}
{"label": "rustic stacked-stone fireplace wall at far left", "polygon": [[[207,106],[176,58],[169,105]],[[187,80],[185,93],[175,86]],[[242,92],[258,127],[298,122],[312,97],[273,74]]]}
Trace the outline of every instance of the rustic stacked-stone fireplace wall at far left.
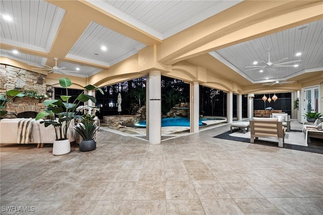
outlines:
{"label": "rustic stacked-stone fireplace wall at far left", "polygon": [[[37,94],[46,95],[46,75],[25,69],[0,64],[0,94],[5,95],[11,89],[19,91],[33,90]],[[16,97],[6,106],[8,114],[5,118],[16,118],[16,115],[25,111],[39,113],[45,109],[44,99]]]}

